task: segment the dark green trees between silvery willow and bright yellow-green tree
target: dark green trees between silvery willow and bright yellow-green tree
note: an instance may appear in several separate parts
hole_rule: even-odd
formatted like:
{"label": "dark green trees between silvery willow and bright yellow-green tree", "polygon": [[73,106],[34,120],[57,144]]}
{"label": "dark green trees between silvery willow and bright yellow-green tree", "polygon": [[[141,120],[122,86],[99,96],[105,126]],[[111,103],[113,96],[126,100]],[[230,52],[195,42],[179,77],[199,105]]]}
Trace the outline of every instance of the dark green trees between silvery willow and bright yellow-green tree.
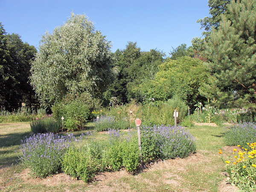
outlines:
{"label": "dark green trees between silvery willow and bright yellow-green tree", "polygon": [[164,53],[156,49],[142,52],[136,42],[128,42],[123,50],[117,49],[113,65],[119,74],[104,93],[105,99],[109,101],[114,96],[121,103],[127,103],[131,98],[140,102],[136,87],[145,79],[154,79],[163,56]]}

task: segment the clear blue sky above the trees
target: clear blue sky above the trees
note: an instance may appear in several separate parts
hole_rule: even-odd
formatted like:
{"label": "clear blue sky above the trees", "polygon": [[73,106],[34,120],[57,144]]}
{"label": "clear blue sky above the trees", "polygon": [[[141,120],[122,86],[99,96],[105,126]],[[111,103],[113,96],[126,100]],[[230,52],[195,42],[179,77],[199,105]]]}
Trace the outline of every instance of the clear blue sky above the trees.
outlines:
{"label": "clear blue sky above the trees", "polygon": [[207,0],[0,0],[0,22],[37,49],[41,35],[70,16],[85,14],[112,42],[112,51],[137,42],[142,51],[191,45],[201,37],[197,19],[209,16]]}

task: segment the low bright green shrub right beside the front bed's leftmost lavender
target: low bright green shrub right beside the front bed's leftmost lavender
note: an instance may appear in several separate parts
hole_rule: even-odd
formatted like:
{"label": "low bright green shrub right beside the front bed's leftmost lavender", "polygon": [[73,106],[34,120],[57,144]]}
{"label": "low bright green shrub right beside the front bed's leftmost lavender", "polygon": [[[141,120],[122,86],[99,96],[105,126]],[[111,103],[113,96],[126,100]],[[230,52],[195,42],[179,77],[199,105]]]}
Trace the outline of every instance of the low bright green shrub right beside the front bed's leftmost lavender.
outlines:
{"label": "low bright green shrub right beside the front bed's leftmost lavender", "polygon": [[84,182],[91,180],[99,171],[97,161],[91,156],[90,151],[71,147],[62,159],[62,170],[71,177],[76,177]]}

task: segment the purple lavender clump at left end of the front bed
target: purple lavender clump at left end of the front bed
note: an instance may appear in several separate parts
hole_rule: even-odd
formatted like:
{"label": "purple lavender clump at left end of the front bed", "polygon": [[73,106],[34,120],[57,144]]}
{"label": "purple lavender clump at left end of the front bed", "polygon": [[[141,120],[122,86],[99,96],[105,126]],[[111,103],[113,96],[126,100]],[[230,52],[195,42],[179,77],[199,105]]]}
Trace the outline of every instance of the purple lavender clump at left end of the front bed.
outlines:
{"label": "purple lavender clump at left end of the front bed", "polygon": [[34,177],[46,177],[55,174],[60,169],[61,157],[64,152],[79,142],[82,136],[76,139],[73,134],[59,136],[58,134],[34,134],[21,140],[20,149],[23,156],[21,162],[30,169]]}

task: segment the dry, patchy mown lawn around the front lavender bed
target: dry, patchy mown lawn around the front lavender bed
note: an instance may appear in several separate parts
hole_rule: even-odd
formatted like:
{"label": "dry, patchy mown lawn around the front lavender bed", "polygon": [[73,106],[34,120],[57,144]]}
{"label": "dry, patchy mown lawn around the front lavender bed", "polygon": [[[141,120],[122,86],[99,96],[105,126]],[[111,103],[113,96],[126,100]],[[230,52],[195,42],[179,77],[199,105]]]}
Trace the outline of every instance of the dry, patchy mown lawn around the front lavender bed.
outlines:
{"label": "dry, patchy mown lawn around the front lavender bed", "polygon": [[[93,122],[88,122],[86,128],[93,131]],[[218,149],[223,149],[225,145],[224,129],[211,126],[194,126],[187,129],[197,140],[196,153],[187,158],[159,160],[135,175],[128,174],[125,170],[105,172],[96,176],[96,181],[92,183],[71,180],[67,175],[63,176],[64,174],[62,177],[67,177],[68,180],[58,182],[60,176],[56,175],[57,179],[49,184],[46,181],[54,177],[26,180],[18,176],[25,169],[18,164],[18,156],[21,155],[20,140],[31,134],[29,123],[0,124],[0,190],[218,191],[218,183],[224,178],[220,173],[225,171],[225,165],[218,155]],[[80,136],[87,130],[76,131],[73,134]],[[107,134],[94,132],[90,137],[106,140]]]}

